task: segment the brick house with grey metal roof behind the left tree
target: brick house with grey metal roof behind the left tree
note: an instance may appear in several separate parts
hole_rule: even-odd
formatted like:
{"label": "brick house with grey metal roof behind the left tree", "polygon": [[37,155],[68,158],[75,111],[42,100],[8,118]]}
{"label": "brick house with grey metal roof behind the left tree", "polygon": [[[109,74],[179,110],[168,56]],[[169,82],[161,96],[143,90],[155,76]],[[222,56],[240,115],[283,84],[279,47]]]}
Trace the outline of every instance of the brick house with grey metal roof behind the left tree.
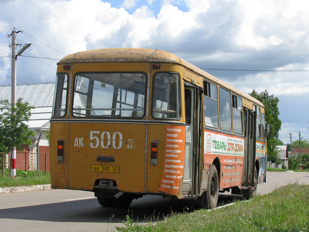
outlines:
{"label": "brick house with grey metal roof behind the left tree", "polygon": [[[47,153],[47,159],[49,160],[49,143],[46,135],[49,131],[49,120],[52,116],[54,91],[54,82],[16,85],[16,99],[20,97],[23,101],[27,101],[31,106],[35,107],[31,110],[31,117],[27,123],[35,134],[33,138],[30,138],[32,144],[30,146],[23,145],[22,149],[17,151],[30,153],[29,158],[27,158],[29,170],[37,170],[38,168],[40,156],[37,153]],[[11,102],[11,85],[0,86],[0,99],[8,99]]]}

